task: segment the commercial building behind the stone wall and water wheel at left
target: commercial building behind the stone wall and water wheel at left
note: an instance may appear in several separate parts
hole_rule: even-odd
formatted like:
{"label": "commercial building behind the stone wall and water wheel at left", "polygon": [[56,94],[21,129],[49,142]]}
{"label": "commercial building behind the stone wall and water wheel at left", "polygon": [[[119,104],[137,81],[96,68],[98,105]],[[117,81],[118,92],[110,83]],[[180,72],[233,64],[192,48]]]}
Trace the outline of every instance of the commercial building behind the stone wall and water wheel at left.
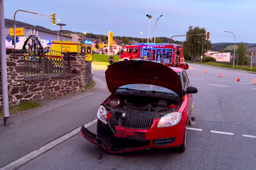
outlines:
{"label": "commercial building behind the stone wall and water wheel at left", "polygon": [[[52,40],[58,40],[58,34],[50,31],[42,31],[40,29],[31,29],[30,27],[22,27],[23,28],[23,36],[17,36],[19,39],[19,42],[16,43],[16,48],[17,49],[22,49],[24,42],[27,39],[27,36],[29,34],[36,34],[40,38],[41,44],[43,47],[47,45],[48,41]],[[34,31],[35,30],[35,31]],[[61,32],[59,31],[59,39],[61,36]],[[10,35],[10,28],[5,29],[5,44],[6,48],[13,48],[14,46],[12,45],[12,39],[13,36]],[[72,41],[72,38],[70,36],[62,36],[63,41]]]}

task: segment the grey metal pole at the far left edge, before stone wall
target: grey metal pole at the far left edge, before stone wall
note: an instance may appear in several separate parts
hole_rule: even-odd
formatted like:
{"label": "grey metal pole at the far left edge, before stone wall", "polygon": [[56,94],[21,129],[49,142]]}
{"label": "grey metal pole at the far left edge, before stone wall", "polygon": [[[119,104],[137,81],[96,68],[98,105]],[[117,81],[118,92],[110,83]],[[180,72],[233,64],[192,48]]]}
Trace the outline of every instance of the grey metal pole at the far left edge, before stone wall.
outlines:
{"label": "grey metal pole at the far left edge, before stone wall", "polygon": [[8,125],[9,103],[8,103],[8,82],[6,67],[6,47],[5,47],[5,25],[4,25],[4,0],[0,0],[0,57],[1,57],[1,78],[2,78],[2,95],[4,125]]}

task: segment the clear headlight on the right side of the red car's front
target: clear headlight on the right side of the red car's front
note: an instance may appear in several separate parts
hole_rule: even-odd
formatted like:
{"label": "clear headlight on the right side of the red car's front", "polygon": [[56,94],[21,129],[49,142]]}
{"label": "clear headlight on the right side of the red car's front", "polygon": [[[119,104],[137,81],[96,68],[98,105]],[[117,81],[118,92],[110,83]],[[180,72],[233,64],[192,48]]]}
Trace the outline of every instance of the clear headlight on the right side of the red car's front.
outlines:
{"label": "clear headlight on the right side of the red car's front", "polygon": [[181,119],[180,112],[169,113],[160,118],[157,124],[157,127],[169,127],[169,126],[177,125],[179,124],[180,119]]}

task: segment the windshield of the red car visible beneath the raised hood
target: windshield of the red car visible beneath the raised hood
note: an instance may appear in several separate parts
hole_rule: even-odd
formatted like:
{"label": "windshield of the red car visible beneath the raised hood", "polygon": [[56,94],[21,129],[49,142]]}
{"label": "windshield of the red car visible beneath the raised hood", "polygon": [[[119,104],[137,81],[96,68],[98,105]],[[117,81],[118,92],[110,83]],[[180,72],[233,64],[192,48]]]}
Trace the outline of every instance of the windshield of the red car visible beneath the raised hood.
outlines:
{"label": "windshield of the red car visible beneath the raised hood", "polygon": [[172,94],[175,96],[177,95],[175,92],[173,92],[170,89],[166,89],[164,87],[160,87],[157,85],[148,85],[148,84],[123,85],[122,87],[119,87],[118,89],[139,90],[139,91],[145,91],[145,92],[162,92],[162,93]]}

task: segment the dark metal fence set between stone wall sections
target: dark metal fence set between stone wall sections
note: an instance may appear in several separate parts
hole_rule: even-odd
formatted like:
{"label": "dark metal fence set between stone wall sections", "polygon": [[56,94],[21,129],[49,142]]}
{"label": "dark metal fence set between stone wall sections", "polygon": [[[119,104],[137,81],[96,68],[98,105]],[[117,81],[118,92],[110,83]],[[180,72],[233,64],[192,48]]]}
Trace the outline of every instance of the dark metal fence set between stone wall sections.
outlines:
{"label": "dark metal fence set between stone wall sections", "polygon": [[63,54],[51,50],[31,50],[24,53],[25,76],[63,73]]}

